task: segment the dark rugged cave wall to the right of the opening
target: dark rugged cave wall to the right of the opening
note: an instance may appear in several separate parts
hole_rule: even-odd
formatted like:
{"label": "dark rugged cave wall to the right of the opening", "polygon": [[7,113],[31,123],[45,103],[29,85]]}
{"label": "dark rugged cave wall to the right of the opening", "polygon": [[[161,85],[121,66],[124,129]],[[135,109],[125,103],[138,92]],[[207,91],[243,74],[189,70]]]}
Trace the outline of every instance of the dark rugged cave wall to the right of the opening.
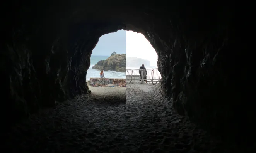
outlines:
{"label": "dark rugged cave wall to the right of the opening", "polygon": [[190,6],[169,20],[159,15],[145,34],[158,54],[161,92],[180,115],[227,141],[248,143],[256,121],[247,87],[250,49],[242,39],[248,24],[225,3]]}

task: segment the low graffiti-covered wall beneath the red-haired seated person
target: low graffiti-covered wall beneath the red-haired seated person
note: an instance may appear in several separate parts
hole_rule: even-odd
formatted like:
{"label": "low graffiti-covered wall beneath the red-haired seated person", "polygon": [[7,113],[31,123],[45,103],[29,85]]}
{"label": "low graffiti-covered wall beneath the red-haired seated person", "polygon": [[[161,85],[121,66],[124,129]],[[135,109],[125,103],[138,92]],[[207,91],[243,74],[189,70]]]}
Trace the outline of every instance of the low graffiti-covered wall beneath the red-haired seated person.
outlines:
{"label": "low graffiti-covered wall beneath the red-haired seated person", "polygon": [[102,87],[114,84],[115,87],[126,87],[126,79],[111,79],[111,78],[90,78],[90,86]]}

